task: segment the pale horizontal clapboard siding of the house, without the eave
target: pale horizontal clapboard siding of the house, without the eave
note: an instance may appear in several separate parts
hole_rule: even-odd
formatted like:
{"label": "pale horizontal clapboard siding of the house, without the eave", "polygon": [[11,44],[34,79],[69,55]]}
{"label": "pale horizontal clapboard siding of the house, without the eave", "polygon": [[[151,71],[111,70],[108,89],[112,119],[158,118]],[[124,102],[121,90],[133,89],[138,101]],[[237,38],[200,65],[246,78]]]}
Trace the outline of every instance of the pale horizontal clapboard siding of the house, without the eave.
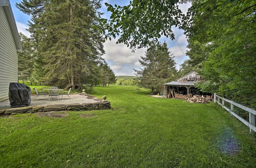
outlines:
{"label": "pale horizontal clapboard siding of the house, without the eave", "polygon": [[8,99],[9,83],[17,81],[17,49],[4,8],[0,7],[0,101]]}

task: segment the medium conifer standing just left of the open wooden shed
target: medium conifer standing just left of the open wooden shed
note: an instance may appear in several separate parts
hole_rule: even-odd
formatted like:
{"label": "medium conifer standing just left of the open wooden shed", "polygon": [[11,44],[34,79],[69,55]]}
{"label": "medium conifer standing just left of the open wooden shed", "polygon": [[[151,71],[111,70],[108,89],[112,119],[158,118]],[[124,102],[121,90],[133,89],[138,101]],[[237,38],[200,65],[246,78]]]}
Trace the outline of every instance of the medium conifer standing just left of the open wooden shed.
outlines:
{"label": "medium conifer standing just left of the open wooden shed", "polygon": [[139,60],[142,68],[135,70],[138,85],[149,88],[152,92],[160,92],[163,83],[174,80],[177,75],[174,55],[168,50],[167,44],[154,44]]}

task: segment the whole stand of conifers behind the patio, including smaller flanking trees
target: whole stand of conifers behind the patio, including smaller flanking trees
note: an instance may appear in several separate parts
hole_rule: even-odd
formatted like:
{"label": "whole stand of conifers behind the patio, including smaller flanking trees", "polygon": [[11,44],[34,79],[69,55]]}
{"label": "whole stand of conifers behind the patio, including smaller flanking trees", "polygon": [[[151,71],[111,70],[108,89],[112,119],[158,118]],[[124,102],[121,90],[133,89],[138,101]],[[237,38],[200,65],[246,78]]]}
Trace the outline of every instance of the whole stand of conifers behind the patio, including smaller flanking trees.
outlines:
{"label": "whole stand of conifers behind the patio, including smaller flanking trees", "polygon": [[16,7],[31,16],[31,37],[20,34],[20,79],[73,88],[115,82],[113,70],[101,58],[99,1],[23,0]]}

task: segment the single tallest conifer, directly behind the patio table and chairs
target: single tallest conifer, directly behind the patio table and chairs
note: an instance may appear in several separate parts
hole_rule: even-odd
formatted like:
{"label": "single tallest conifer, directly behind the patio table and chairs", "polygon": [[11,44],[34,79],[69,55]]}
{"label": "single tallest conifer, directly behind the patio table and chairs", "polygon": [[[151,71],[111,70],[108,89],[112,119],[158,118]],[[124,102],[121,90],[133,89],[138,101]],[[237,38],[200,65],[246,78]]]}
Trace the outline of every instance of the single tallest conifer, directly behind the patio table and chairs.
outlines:
{"label": "single tallest conifer, directly behind the patio table and chairs", "polygon": [[23,0],[17,7],[32,17],[29,32],[46,84],[74,87],[87,83],[82,73],[94,73],[92,67],[104,53],[99,1]]}

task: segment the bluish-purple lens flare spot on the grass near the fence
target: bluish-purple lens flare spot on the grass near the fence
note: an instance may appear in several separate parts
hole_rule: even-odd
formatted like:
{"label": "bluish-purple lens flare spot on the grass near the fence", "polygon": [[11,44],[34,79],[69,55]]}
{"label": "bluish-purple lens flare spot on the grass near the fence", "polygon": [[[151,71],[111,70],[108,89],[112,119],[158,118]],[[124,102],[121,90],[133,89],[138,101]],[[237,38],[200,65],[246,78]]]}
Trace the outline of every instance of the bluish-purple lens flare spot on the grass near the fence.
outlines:
{"label": "bluish-purple lens flare spot on the grass near the fence", "polygon": [[239,141],[229,127],[223,129],[217,143],[219,150],[226,155],[236,155],[239,152]]}

